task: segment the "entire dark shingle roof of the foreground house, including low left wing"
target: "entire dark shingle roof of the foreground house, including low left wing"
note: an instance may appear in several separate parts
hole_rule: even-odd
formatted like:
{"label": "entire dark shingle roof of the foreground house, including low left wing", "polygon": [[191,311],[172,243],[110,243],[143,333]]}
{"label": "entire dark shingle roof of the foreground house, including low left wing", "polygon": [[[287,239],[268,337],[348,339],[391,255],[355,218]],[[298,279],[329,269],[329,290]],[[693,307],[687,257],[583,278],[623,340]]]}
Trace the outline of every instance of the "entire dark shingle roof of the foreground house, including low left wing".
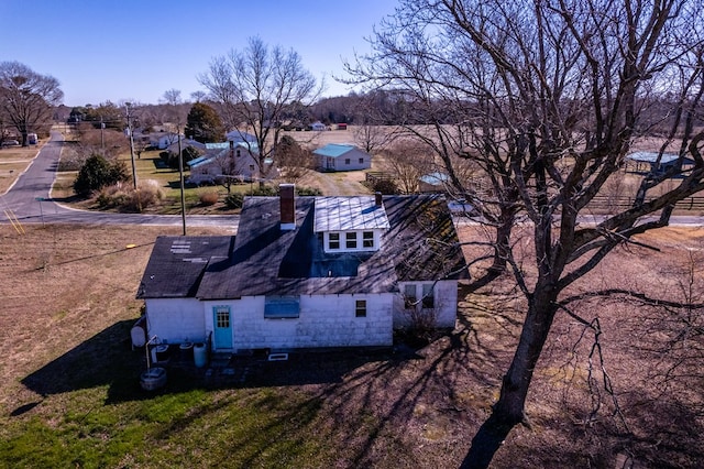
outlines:
{"label": "entire dark shingle roof of the foreground house, including low left wing", "polygon": [[443,196],[385,196],[381,249],[334,254],[315,232],[316,205],[324,200],[297,197],[290,231],[280,230],[278,197],[250,197],[237,238],[158,237],[138,297],[386,293],[399,281],[469,277]]}

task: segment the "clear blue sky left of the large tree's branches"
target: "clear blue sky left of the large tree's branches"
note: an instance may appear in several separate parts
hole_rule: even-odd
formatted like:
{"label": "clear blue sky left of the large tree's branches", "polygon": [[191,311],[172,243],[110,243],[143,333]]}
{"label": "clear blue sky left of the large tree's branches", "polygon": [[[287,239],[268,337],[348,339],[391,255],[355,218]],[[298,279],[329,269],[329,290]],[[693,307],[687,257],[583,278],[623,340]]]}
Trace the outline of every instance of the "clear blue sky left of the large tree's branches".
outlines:
{"label": "clear blue sky left of the large tree's branches", "polygon": [[157,103],[202,90],[212,57],[249,37],[294,48],[324,96],[346,95],[332,76],[395,0],[0,0],[0,62],[18,61],[59,80],[67,106],[111,100]]}

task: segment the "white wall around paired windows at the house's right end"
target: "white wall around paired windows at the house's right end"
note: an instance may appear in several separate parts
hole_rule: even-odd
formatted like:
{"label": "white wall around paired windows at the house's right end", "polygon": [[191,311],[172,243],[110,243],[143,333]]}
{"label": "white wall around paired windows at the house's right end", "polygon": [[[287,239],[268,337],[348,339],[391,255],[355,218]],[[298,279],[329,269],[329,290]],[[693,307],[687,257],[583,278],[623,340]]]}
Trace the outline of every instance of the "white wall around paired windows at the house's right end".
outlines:
{"label": "white wall around paired windows at the house's right end", "polygon": [[[400,294],[394,299],[394,328],[410,326],[410,310],[404,304],[404,291],[406,285],[416,286],[416,298],[422,297],[422,285],[432,284],[433,281],[427,282],[400,282]],[[436,315],[436,327],[454,328],[458,315],[458,282],[455,280],[443,280],[435,284],[435,308],[425,312]],[[416,312],[424,313],[421,305],[416,306]]]}

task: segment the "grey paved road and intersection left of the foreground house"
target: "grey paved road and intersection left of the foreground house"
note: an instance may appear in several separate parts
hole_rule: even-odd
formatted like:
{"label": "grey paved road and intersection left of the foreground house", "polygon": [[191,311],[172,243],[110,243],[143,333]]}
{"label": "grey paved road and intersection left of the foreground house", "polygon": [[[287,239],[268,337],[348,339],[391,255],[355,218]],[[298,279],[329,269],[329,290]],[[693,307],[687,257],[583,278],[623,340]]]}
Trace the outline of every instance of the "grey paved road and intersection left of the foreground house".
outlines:
{"label": "grey paved road and intersection left of the foreground house", "polygon": [[[57,204],[51,198],[56,167],[64,146],[61,132],[52,132],[52,139],[40,150],[28,170],[10,189],[0,195],[0,222],[9,222],[8,212],[21,223],[94,223],[94,225],[165,225],[182,226],[180,215],[111,214],[76,210]],[[6,212],[7,211],[7,212]],[[189,226],[223,226],[237,229],[237,215],[188,215]]]}

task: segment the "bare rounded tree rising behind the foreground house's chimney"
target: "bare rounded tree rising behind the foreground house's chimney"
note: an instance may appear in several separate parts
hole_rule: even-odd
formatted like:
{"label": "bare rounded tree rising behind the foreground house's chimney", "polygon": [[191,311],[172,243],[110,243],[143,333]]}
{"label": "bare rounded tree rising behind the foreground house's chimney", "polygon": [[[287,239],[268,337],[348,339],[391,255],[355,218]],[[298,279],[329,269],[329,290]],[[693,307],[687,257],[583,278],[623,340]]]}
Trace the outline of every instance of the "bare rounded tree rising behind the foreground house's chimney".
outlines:
{"label": "bare rounded tree rising behind the foreground house's chimney", "polygon": [[227,56],[213,58],[199,80],[221,103],[226,126],[254,134],[252,146],[256,148],[250,150],[258,155],[263,185],[277,164],[282,117],[289,105],[309,106],[315,100],[320,92],[316,79],[295,51],[270,48],[261,39],[252,37],[244,51],[232,50]]}

